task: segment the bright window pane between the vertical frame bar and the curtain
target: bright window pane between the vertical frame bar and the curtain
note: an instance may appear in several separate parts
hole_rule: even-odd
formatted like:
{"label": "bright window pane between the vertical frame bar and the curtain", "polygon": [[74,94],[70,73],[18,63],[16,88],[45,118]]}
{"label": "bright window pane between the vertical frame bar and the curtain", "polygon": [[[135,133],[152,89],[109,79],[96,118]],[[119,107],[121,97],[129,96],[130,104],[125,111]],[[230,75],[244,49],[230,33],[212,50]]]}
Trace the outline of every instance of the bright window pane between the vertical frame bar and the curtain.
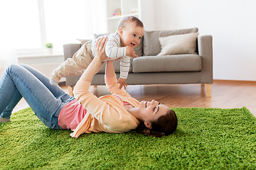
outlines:
{"label": "bright window pane between the vertical frame bar and the curtain", "polygon": [[44,13],[47,41],[55,50],[77,38],[92,38],[91,1],[45,0]]}

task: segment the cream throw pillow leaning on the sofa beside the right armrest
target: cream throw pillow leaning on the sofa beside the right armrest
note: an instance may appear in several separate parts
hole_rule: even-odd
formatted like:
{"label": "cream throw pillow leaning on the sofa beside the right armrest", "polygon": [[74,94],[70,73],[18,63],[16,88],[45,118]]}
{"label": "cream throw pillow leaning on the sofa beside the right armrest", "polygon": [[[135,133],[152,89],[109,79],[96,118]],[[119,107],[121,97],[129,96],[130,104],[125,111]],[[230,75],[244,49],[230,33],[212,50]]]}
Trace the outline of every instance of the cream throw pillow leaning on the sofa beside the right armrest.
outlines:
{"label": "cream throw pillow leaning on the sofa beside the right armrest", "polygon": [[196,53],[196,38],[198,34],[199,33],[188,33],[159,38],[161,52],[158,56]]}

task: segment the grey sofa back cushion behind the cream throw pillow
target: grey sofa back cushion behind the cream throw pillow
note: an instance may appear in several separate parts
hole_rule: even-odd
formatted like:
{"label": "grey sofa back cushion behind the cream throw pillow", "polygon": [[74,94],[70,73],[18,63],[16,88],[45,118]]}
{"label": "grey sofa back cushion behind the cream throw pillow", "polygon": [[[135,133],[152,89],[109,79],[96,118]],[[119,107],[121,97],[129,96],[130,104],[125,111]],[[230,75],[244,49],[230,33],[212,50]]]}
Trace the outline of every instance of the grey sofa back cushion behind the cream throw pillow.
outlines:
{"label": "grey sofa back cushion behind the cream throw pillow", "polygon": [[181,30],[153,30],[145,31],[143,39],[143,55],[154,56],[161,52],[159,37],[167,37],[169,35],[180,35],[187,33],[197,33],[198,28],[188,28]]}

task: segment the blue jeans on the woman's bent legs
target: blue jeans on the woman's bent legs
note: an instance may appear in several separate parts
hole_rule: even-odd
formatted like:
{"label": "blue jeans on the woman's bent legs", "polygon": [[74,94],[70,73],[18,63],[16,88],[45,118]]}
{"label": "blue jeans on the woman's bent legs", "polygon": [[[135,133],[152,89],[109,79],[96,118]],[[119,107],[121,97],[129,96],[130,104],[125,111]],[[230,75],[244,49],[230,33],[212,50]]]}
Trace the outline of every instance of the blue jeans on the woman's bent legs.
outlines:
{"label": "blue jeans on the woman's bent legs", "polygon": [[51,129],[62,129],[58,115],[66,103],[75,98],[48,77],[25,64],[10,65],[0,79],[0,117],[10,118],[14,107],[25,98],[35,115]]}

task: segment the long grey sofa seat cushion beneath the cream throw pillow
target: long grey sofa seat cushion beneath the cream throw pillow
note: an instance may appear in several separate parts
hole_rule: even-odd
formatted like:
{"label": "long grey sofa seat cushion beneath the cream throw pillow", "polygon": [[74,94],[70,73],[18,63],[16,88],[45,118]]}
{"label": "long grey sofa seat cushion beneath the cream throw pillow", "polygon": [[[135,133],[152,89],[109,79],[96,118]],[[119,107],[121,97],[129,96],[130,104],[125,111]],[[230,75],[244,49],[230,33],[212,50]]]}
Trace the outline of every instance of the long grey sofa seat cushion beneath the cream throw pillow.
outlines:
{"label": "long grey sofa seat cushion beneath the cream throw pillow", "polygon": [[199,72],[202,59],[199,55],[144,56],[132,60],[132,72]]}

